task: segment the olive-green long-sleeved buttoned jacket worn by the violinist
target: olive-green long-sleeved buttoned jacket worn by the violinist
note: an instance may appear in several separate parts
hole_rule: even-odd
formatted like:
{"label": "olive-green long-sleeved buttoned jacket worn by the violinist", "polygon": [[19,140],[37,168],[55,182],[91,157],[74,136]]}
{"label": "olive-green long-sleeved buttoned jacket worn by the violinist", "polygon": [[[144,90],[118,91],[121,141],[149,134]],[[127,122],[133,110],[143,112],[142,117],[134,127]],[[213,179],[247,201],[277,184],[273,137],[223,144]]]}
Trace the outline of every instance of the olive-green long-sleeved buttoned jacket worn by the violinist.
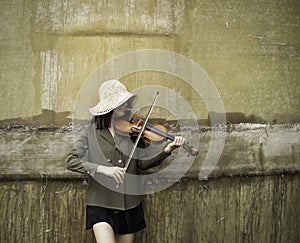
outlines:
{"label": "olive-green long-sleeved buttoned jacket worn by the violinist", "polygon": [[[143,185],[140,170],[159,165],[170,154],[160,150],[151,157],[148,149],[137,148],[130,161],[124,183],[116,188],[116,182],[100,173],[99,165],[124,167],[133,142],[118,134],[113,138],[108,129],[96,129],[95,123],[85,126],[75,138],[75,148],[68,154],[67,168],[88,174],[86,204],[119,210],[130,209],[141,202]],[[151,147],[151,146],[150,146]],[[151,152],[151,150],[150,150]]]}

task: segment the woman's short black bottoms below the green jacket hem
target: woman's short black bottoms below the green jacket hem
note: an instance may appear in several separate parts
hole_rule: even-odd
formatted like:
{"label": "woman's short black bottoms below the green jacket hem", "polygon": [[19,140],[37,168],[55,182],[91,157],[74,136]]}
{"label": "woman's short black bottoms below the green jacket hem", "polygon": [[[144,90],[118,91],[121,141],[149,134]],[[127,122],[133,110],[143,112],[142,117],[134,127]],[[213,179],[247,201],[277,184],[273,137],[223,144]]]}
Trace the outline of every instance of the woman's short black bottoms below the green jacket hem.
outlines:
{"label": "woman's short black bottoms below the green jacket hem", "polygon": [[128,210],[115,210],[97,206],[86,206],[86,229],[94,224],[106,222],[115,234],[131,234],[146,227],[142,204]]}

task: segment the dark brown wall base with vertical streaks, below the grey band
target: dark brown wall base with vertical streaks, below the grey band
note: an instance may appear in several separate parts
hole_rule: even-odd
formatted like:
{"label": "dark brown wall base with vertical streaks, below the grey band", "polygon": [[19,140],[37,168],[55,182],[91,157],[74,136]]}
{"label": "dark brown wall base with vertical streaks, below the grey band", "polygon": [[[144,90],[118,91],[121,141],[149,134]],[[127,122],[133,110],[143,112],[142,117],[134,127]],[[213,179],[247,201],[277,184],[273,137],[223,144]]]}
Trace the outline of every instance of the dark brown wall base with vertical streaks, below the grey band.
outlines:
{"label": "dark brown wall base with vertical streaks, below the grey band", "polygon": [[[299,188],[284,174],[183,181],[145,198],[148,227],[135,242],[299,242]],[[2,182],[1,242],[95,242],[84,193],[78,179]]]}

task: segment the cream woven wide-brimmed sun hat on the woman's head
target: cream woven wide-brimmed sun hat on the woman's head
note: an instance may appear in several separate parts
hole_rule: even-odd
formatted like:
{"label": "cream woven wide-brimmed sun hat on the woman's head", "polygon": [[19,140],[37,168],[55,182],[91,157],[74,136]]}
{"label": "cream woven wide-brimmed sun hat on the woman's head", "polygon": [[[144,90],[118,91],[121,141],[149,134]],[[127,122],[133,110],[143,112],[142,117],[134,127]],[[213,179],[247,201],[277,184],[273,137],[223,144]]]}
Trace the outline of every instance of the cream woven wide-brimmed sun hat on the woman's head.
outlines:
{"label": "cream woven wide-brimmed sun hat on the woman's head", "polygon": [[104,115],[130,99],[135,102],[137,95],[129,93],[120,81],[107,80],[99,88],[99,103],[89,111],[93,116]]}

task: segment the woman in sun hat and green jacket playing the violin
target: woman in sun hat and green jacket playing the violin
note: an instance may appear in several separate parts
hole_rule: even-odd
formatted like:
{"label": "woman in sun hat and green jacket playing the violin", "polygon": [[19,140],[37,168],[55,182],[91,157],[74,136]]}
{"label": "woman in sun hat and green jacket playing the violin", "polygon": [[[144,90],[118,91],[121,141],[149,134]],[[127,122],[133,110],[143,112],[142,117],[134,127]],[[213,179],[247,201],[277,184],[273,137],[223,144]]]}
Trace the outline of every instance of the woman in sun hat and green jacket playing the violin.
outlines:
{"label": "woman in sun hat and green jacket playing the violin", "polygon": [[[75,141],[76,148],[67,157],[67,168],[89,175],[86,228],[93,228],[96,241],[130,243],[134,233],[145,228],[146,224],[141,197],[126,194],[126,187],[132,187],[126,181],[127,176],[160,164],[184,143],[184,139],[175,137],[154,158],[141,160],[133,157],[125,171],[127,151],[133,143],[129,137],[116,133],[114,124],[128,116],[129,107],[137,97],[118,80],[108,80],[100,86],[99,98],[100,102],[89,109],[94,119],[84,127]],[[114,187],[109,187],[109,184]],[[123,190],[113,189],[118,184]]]}

